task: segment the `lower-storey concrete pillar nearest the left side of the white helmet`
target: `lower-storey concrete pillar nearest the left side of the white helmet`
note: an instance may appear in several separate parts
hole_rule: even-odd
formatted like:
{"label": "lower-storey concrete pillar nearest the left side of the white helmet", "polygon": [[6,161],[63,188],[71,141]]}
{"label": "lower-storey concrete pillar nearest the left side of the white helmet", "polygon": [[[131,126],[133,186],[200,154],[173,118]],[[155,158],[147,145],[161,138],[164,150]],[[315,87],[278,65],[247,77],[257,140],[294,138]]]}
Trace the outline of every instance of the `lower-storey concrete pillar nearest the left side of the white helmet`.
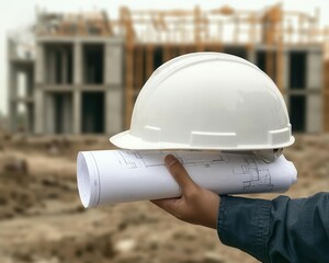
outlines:
{"label": "lower-storey concrete pillar nearest the left side of the white helmet", "polygon": [[123,89],[116,88],[105,92],[105,133],[113,135],[123,129]]}

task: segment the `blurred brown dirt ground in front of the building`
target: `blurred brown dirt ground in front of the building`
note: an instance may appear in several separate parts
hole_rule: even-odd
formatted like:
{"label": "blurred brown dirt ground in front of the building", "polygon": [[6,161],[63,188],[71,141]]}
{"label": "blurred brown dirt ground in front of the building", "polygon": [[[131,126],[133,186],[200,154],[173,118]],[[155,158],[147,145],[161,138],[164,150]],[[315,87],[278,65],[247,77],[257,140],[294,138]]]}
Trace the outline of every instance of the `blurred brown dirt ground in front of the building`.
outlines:
{"label": "blurred brown dirt ground in front of the building", "polygon": [[[82,208],[77,152],[106,148],[106,137],[0,134],[1,263],[257,262],[223,245],[216,231],[179,221],[149,202]],[[298,170],[298,183],[285,194],[329,190],[329,135],[298,135],[284,153]]]}

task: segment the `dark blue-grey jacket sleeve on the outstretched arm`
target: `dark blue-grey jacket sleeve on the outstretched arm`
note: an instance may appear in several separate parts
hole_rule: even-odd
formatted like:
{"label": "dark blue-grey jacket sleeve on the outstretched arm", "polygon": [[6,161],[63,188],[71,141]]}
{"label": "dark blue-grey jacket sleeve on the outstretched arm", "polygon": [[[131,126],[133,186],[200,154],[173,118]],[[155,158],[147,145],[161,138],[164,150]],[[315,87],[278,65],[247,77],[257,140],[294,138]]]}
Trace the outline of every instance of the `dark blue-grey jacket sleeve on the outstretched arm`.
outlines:
{"label": "dark blue-grey jacket sleeve on the outstretched arm", "polygon": [[329,193],[273,201],[222,196],[224,244],[262,262],[329,262]]}

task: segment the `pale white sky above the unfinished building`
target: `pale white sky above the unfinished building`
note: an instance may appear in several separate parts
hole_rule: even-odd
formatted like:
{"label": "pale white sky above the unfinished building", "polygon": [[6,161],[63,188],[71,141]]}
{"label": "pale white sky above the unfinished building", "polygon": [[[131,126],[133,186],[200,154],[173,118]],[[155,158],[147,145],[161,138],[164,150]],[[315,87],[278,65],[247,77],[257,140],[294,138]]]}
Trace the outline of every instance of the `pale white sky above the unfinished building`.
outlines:
{"label": "pale white sky above the unfinished building", "polygon": [[8,60],[7,36],[9,32],[25,28],[35,22],[37,9],[48,12],[80,12],[106,10],[116,18],[121,5],[131,9],[202,9],[219,8],[228,4],[235,9],[260,10],[281,2],[285,10],[298,10],[314,14],[320,10],[320,24],[329,25],[328,0],[0,0],[0,115],[8,114]]}

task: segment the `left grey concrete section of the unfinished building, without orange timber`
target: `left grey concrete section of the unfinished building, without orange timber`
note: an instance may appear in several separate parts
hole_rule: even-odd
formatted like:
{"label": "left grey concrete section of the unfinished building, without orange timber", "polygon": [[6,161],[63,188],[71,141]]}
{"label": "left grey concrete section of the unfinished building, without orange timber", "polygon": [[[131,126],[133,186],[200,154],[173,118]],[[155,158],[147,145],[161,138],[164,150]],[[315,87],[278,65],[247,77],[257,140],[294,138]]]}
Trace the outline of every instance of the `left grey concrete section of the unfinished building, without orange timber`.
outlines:
{"label": "left grey concrete section of the unfinished building, without orange timber", "polygon": [[[38,14],[33,60],[16,59],[22,44],[10,39],[12,130],[20,129],[19,103],[27,105],[23,127],[27,133],[113,134],[123,129],[124,42],[109,26],[102,12]],[[16,92],[21,71],[29,80],[23,96]]]}

